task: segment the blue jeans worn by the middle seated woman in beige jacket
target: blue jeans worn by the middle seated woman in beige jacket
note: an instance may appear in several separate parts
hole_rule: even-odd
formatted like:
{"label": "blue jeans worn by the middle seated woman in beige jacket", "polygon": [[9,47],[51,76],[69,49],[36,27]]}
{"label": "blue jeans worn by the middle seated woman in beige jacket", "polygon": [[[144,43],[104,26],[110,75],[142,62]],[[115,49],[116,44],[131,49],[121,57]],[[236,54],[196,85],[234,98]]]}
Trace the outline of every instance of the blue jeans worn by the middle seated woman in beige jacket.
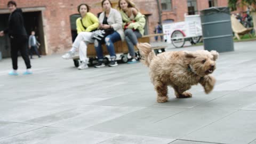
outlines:
{"label": "blue jeans worn by the middle seated woman in beige jacket", "polygon": [[[105,42],[103,42],[103,43],[106,43],[106,46],[107,46],[107,49],[108,49],[111,59],[116,58],[114,43],[117,41],[120,41],[120,40],[121,40],[121,36],[115,31],[113,34],[108,35],[105,38]],[[102,50],[102,46],[101,46],[103,43],[99,42],[97,40],[95,40],[95,42],[94,42],[94,47],[97,52],[98,60],[103,60],[103,50]]]}

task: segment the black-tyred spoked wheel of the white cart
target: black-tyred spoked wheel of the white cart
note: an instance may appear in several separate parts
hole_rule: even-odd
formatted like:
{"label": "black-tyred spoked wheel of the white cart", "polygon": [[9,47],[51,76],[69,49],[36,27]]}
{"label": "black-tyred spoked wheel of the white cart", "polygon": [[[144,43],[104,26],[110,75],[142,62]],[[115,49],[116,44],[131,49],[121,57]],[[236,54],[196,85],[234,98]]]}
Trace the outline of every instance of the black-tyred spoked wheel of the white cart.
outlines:
{"label": "black-tyred spoked wheel of the white cart", "polygon": [[171,39],[172,39],[172,44],[175,47],[182,47],[185,44],[185,35],[183,35],[183,33],[181,33],[180,30],[174,30],[172,35],[171,35]]}

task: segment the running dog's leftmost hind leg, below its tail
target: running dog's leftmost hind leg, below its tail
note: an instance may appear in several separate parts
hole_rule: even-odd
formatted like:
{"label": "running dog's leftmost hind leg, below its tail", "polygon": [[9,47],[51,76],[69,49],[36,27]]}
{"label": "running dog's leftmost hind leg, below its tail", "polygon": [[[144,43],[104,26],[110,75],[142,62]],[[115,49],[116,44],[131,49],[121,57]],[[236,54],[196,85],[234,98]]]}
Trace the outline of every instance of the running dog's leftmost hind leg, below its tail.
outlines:
{"label": "running dog's leftmost hind leg, below its tail", "polygon": [[159,102],[159,103],[166,102],[168,100],[167,85],[163,84],[162,82],[155,82],[154,86],[155,86],[155,90],[157,92],[157,102]]}

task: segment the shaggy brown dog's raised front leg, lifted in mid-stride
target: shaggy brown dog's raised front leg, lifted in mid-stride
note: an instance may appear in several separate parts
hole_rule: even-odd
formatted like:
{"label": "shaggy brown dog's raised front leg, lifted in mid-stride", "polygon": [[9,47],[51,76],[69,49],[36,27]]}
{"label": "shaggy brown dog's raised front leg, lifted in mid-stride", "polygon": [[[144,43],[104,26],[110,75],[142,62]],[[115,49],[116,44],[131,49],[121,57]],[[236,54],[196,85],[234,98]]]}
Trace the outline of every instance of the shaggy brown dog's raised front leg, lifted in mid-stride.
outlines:
{"label": "shaggy brown dog's raised front leg, lifted in mid-stride", "polygon": [[199,83],[204,87],[204,92],[207,94],[213,90],[215,82],[216,79],[211,75],[206,75],[202,77],[199,81]]}

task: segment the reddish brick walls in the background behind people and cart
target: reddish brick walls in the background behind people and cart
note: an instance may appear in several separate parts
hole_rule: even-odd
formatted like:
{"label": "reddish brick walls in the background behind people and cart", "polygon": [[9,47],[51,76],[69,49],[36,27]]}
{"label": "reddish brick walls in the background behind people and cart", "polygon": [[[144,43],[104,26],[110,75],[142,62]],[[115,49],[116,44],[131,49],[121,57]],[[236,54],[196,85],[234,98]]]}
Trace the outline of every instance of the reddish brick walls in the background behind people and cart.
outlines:
{"label": "reddish brick walls in the background behind people and cart", "polygon": [[[0,9],[6,9],[9,0],[1,0]],[[161,0],[160,0],[161,1]],[[228,0],[218,0],[219,6],[226,6]],[[63,53],[71,47],[70,20],[71,14],[77,13],[77,5],[87,3],[92,6],[99,0],[16,0],[18,7],[45,7],[43,11],[44,34],[48,46],[48,54]],[[156,0],[133,1],[139,9],[150,12],[149,34],[153,34],[154,27],[158,22],[158,11]],[[197,0],[197,9],[203,10],[209,7],[207,0]],[[101,11],[101,7],[91,7],[95,15]],[[183,21],[184,13],[188,11],[187,0],[172,0],[172,11],[163,11],[162,20],[173,19],[174,22]]]}

